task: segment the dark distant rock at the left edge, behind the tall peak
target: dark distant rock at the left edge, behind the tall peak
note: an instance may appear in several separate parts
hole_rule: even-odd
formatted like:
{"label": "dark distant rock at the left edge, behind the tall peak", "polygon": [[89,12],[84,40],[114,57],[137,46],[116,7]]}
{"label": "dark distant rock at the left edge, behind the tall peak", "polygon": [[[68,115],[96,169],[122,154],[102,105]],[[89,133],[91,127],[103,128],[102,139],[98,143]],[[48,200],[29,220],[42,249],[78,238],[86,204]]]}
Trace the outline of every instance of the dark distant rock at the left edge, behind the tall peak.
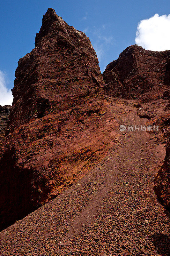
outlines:
{"label": "dark distant rock at the left edge, behind the tall peak", "polygon": [[5,137],[5,130],[7,128],[7,122],[10,115],[10,105],[1,106],[0,105],[0,143]]}

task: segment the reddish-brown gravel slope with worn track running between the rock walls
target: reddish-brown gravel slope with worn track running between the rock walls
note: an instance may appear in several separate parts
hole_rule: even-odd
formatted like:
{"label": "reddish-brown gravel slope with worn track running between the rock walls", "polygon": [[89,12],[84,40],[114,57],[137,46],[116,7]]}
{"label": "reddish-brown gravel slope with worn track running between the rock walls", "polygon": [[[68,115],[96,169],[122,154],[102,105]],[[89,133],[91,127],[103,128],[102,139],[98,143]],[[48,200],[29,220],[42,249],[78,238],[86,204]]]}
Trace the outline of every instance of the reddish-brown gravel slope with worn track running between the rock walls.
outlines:
{"label": "reddish-brown gravel slope with worn track running between the rock walls", "polygon": [[[117,103],[120,124],[146,122],[133,102]],[[0,233],[1,255],[170,255],[170,216],[152,182],[165,147],[147,132],[116,132],[120,141],[85,177]]]}

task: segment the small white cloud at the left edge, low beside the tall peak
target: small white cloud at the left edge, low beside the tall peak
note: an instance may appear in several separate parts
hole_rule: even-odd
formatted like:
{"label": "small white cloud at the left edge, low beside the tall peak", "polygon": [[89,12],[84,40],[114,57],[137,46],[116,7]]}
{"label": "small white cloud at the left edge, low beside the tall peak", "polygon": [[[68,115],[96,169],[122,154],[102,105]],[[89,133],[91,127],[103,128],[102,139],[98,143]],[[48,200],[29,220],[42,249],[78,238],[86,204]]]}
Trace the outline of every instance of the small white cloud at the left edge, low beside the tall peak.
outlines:
{"label": "small white cloud at the left edge, low beside the tall peak", "polygon": [[7,78],[0,70],[0,105],[12,105],[13,96],[11,90],[6,87]]}

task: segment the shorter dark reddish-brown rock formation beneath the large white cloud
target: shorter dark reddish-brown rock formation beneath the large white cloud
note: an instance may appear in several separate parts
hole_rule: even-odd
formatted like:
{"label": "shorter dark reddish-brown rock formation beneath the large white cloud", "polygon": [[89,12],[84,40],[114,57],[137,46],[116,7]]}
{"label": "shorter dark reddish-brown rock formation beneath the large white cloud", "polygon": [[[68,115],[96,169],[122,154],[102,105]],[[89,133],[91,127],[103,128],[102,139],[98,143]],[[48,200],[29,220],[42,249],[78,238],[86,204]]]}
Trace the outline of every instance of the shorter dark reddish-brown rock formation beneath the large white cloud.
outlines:
{"label": "shorter dark reddish-brown rock formation beneath the large white cloud", "polygon": [[103,79],[113,97],[139,98],[152,87],[159,91],[170,84],[170,51],[146,51],[141,46],[126,48],[117,60],[107,65]]}

